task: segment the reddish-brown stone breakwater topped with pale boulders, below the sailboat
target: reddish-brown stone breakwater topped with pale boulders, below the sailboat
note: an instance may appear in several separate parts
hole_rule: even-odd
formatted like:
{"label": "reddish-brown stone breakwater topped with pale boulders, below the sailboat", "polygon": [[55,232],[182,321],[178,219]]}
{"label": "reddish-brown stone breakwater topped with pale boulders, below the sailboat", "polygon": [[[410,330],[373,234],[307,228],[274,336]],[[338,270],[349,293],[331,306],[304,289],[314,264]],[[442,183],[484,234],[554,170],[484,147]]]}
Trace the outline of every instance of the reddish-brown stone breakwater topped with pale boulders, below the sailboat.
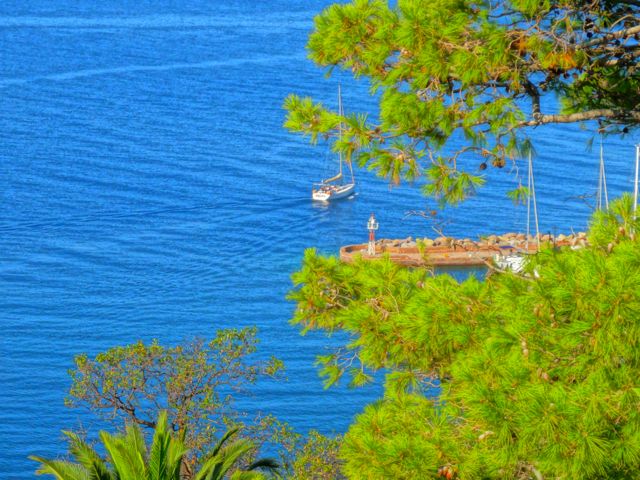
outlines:
{"label": "reddish-brown stone breakwater topped with pale boulders, below the sailboat", "polygon": [[[528,240],[528,241],[527,241]],[[584,232],[570,235],[540,235],[543,244],[580,248],[587,245]],[[374,259],[383,255],[405,266],[478,266],[486,265],[496,255],[535,253],[538,243],[534,236],[522,233],[487,235],[478,240],[452,237],[381,239],[375,244],[375,254],[367,253],[367,245],[346,245],[340,249],[340,259],[352,262],[356,258]]]}

